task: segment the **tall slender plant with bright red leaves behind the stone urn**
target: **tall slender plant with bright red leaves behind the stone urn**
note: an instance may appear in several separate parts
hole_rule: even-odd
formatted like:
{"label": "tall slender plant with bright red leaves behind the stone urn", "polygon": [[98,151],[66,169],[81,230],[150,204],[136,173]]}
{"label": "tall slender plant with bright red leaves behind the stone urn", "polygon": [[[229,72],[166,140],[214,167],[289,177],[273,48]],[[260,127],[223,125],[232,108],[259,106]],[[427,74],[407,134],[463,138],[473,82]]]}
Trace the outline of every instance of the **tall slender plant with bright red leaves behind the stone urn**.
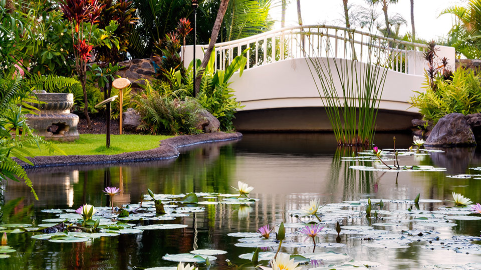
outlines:
{"label": "tall slender plant with bright red leaves behind the stone urn", "polygon": [[[92,28],[98,22],[102,8],[98,0],[60,0],[60,9],[72,24],[72,42],[74,44],[75,68],[84,92],[84,113],[90,127],[87,89],[87,61],[90,59],[92,45],[90,38]],[[84,34],[84,22],[90,22],[89,32]]]}

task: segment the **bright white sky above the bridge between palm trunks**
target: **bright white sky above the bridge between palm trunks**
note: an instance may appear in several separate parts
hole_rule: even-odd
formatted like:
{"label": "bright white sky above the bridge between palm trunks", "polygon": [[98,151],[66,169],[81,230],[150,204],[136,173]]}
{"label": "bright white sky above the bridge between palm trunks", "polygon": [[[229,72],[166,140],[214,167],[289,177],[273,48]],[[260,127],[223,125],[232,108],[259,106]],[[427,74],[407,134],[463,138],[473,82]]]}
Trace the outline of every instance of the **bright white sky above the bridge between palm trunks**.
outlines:
{"label": "bright white sky above the bridge between palm trunks", "polygon": [[[296,0],[290,1],[286,11],[286,26],[297,25],[297,5]],[[275,28],[280,27],[281,8],[273,0],[275,7],[271,10],[271,16],[278,20]],[[414,25],[416,37],[426,40],[438,39],[445,36],[452,26],[452,16],[450,14],[439,13],[451,5],[464,5],[466,0],[414,0]],[[358,6],[368,6],[365,0],[349,0],[349,4]],[[380,11],[380,7],[378,7]],[[411,31],[411,4],[410,0],[398,0],[395,4],[388,6],[388,13],[399,13],[407,21],[407,25],[401,28],[401,33]],[[342,0],[301,0],[301,15],[303,24],[331,24],[341,25],[344,18],[344,8]],[[439,16],[439,17],[438,17]],[[381,17],[384,21],[384,16]]]}

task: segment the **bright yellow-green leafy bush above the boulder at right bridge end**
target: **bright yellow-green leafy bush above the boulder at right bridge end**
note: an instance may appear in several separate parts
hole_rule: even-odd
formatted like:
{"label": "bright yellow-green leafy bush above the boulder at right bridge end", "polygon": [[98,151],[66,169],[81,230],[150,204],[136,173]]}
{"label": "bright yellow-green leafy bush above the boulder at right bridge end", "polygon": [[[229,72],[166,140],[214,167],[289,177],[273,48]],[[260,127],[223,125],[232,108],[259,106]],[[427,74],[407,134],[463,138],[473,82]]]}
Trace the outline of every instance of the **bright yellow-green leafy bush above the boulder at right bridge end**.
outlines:
{"label": "bright yellow-green leafy bush above the boulder at right bridge end", "polygon": [[464,115],[481,112],[481,76],[472,69],[458,68],[451,80],[438,77],[437,88],[429,86],[428,78],[424,91],[415,91],[410,104],[419,108],[425,120],[435,124],[445,114],[459,112]]}

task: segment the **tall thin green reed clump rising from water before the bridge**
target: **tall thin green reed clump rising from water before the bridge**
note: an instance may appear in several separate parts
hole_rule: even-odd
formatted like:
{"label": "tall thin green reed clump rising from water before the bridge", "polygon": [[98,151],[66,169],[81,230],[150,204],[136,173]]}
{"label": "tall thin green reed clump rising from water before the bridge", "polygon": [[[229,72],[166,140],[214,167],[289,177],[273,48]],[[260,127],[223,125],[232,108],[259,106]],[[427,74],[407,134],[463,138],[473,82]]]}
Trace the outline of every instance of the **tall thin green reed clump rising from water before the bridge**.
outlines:
{"label": "tall thin green reed clump rising from water before the bridge", "polygon": [[[322,34],[322,33],[321,33]],[[366,34],[367,52],[354,52],[353,42],[344,58],[334,57],[337,50],[326,38],[326,57],[306,58],[314,83],[331,122],[339,145],[370,145],[376,130],[376,117],[388,68],[396,57],[394,41]],[[348,42],[350,39],[345,37]],[[313,46],[313,44],[310,44]],[[367,48],[366,48],[367,47]],[[357,55],[361,55],[358,59]]]}

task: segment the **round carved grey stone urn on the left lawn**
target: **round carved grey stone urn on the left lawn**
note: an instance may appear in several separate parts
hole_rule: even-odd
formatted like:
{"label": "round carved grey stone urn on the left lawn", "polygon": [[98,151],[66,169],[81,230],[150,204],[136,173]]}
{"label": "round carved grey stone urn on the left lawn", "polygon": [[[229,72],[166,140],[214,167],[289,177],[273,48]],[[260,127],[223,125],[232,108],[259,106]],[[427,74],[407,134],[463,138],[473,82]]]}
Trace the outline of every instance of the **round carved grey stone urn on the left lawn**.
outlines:
{"label": "round carved grey stone urn on the left lawn", "polygon": [[29,103],[40,109],[37,114],[27,114],[27,121],[46,140],[72,141],[79,138],[79,116],[70,113],[74,105],[71,93],[37,93],[40,104]]}

